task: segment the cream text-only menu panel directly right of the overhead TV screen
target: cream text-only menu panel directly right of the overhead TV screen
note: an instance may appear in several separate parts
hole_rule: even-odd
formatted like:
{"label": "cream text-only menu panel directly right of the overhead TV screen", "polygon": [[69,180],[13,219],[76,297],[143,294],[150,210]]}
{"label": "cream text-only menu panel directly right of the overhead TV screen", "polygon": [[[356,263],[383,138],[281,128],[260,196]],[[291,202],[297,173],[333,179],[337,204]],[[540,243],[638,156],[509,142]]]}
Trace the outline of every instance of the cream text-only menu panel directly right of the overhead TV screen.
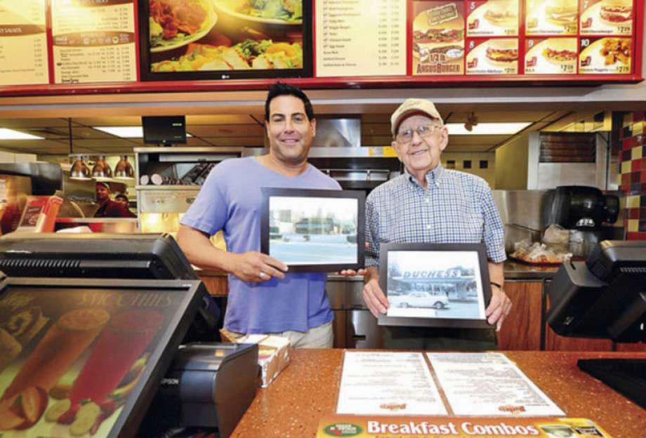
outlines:
{"label": "cream text-only menu panel directly right of the overhead TV screen", "polygon": [[316,16],[317,77],[406,74],[404,1],[320,0]]}

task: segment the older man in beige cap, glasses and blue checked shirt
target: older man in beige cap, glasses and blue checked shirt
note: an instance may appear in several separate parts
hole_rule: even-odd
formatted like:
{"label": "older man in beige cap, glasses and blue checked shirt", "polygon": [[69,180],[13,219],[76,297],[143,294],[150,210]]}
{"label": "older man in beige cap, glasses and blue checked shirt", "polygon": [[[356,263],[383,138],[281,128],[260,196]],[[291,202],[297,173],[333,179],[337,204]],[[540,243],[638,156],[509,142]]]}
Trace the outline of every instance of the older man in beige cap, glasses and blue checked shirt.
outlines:
{"label": "older man in beige cap, glasses and blue checked shirt", "polygon": [[[390,118],[393,147],[404,174],[376,187],[366,201],[367,275],[364,300],[376,317],[388,309],[379,287],[379,245],[480,243],[487,247],[492,300],[487,321],[500,329],[511,308],[503,292],[503,224],[489,185],[440,164],[449,142],[440,113],[428,100],[407,99]],[[385,327],[384,346],[433,350],[490,350],[493,330]]]}

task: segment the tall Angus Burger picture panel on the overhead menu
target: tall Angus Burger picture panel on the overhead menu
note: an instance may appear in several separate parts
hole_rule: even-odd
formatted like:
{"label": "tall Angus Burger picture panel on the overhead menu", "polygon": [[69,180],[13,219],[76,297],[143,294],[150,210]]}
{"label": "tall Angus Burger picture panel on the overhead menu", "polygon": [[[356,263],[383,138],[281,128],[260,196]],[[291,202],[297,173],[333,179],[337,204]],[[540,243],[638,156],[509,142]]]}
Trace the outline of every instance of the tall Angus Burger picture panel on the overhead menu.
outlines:
{"label": "tall Angus Burger picture panel on the overhead menu", "polygon": [[462,1],[415,1],[412,23],[413,74],[462,74]]}

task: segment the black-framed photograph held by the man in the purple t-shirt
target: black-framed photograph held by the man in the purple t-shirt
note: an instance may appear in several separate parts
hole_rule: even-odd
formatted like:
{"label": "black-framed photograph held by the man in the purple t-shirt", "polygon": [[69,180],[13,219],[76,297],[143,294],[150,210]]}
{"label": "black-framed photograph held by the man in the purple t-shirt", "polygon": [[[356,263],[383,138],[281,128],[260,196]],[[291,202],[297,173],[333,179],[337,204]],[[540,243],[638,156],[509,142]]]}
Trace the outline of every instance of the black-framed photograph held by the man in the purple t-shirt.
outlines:
{"label": "black-framed photograph held by the man in the purple t-shirt", "polygon": [[364,266],[364,206],[359,190],[263,187],[261,251],[291,272]]}

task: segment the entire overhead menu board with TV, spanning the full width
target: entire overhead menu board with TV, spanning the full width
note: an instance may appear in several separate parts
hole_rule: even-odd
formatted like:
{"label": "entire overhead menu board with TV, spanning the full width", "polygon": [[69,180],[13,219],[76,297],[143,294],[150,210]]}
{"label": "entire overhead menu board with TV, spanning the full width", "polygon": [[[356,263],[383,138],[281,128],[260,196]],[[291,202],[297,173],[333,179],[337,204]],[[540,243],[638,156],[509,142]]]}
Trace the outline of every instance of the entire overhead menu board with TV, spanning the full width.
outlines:
{"label": "entire overhead menu board with TV, spanning the full width", "polygon": [[199,81],[292,77],[304,88],[636,82],[644,8],[638,0],[0,0],[0,93],[37,93],[34,84],[77,93],[75,84],[100,82],[125,92],[175,91],[170,81],[187,91],[266,89],[271,81]]}

